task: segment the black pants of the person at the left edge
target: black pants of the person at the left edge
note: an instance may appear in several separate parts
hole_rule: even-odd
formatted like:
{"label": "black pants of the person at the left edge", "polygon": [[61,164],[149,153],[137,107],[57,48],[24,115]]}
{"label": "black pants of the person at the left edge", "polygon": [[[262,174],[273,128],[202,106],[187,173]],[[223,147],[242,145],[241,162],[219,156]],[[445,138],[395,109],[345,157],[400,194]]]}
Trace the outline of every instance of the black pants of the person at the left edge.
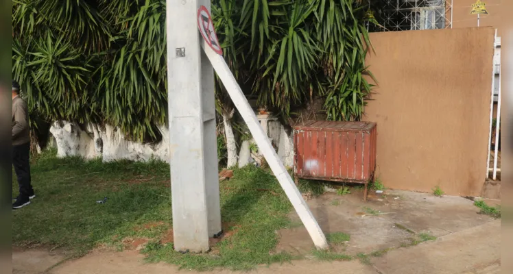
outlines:
{"label": "black pants of the person at the left edge", "polygon": [[30,142],[23,145],[12,146],[12,166],[18,178],[20,188],[19,199],[28,201],[29,197],[34,195],[34,189],[30,182]]}

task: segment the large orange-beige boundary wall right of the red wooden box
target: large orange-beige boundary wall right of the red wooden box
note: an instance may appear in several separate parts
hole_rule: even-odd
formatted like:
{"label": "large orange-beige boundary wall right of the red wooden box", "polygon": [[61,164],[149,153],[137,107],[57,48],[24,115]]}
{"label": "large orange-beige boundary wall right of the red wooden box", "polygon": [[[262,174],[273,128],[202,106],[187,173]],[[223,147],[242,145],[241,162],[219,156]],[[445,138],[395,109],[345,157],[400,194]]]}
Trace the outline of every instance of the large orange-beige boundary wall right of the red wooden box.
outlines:
{"label": "large orange-beige boundary wall right of the red wooden box", "polygon": [[486,177],[494,30],[371,34],[379,87],[377,175],[390,188],[480,195]]}

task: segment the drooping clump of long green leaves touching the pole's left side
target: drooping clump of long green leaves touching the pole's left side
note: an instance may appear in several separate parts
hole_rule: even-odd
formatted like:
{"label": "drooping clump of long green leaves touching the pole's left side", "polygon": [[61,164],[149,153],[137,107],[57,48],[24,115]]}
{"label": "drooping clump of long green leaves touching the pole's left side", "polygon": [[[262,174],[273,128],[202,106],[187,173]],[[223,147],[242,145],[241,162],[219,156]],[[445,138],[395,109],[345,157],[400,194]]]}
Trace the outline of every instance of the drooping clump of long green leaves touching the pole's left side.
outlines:
{"label": "drooping clump of long green leaves touching the pole's left side", "polygon": [[[165,124],[165,1],[146,0],[132,16],[120,18],[110,51],[99,73],[96,97],[107,121],[132,138],[156,137]],[[121,96],[120,96],[121,95]]]}

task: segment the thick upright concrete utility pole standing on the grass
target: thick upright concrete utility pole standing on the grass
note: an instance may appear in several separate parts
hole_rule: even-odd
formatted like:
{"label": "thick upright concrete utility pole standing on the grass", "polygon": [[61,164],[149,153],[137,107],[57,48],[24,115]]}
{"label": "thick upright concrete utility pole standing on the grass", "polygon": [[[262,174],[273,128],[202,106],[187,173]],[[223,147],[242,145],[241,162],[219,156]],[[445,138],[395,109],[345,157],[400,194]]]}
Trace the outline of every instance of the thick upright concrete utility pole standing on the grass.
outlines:
{"label": "thick upright concrete utility pole standing on the grass", "polygon": [[214,71],[200,47],[198,8],[209,0],[167,0],[171,195],[176,251],[208,251],[220,234]]}

